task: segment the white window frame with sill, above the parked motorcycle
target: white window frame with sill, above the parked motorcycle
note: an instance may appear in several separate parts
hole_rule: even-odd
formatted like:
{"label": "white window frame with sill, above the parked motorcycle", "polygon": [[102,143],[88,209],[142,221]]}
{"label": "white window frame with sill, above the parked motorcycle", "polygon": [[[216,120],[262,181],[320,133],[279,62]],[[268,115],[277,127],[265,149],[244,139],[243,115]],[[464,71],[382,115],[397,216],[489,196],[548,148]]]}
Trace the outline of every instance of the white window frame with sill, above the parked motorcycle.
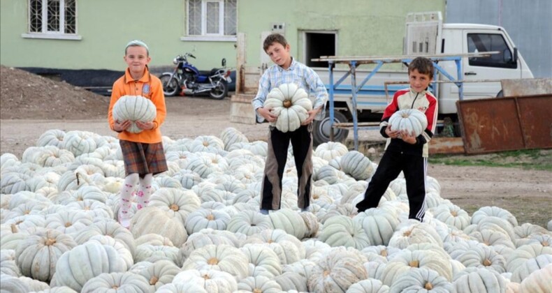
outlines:
{"label": "white window frame with sill, above the parked motorcycle", "polygon": [[[207,33],[207,3],[218,2],[219,3],[219,32]],[[236,0],[237,6],[238,0]],[[236,7],[237,9],[237,7]],[[219,42],[235,42],[238,40],[237,36],[224,35],[224,0],[201,0],[201,35],[189,34],[189,1],[187,1],[187,17],[186,17],[186,36],[180,38],[180,40],[196,40],[196,41],[219,41]],[[236,13],[235,17],[238,17]]]}

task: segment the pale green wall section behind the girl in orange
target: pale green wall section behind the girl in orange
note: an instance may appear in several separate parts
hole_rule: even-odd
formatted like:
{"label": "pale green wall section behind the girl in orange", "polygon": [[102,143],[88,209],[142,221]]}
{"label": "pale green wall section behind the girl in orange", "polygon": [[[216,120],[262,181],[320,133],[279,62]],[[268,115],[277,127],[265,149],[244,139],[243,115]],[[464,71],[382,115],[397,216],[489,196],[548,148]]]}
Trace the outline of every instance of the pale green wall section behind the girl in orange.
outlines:
{"label": "pale green wall section behind the girl in orange", "polygon": [[[132,3],[131,5],[129,3]],[[154,3],[154,6],[152,5]],[[77,0],[82,40],[22,38],[27,33],[27,1],[2,0],[0,63],[5,66],[124,70],[124,47],[142,39],[150,47],[150,66],[172,66],[176,54],[195,50],[199,68],[235,66],[234,42],[185,42],[182,0]],[[215,44],[215,45],[213,45]]]}

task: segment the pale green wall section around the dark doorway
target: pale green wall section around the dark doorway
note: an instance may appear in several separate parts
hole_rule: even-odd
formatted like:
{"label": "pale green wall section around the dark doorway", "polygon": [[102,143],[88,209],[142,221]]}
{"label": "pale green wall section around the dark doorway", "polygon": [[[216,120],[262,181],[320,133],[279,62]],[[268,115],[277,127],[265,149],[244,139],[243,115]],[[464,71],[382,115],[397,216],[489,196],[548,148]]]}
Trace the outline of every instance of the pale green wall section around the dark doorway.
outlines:
{"label": "pale green wall section around the dark doorway", "polygon": [[[337,31],[336,50],[340,56],[402,54],[407,13],[444,14],[445,0],[280,0],[277,6],[268,6],[267,1],[240,0],[239,8],[239,28],[247,33],[247,63],[253,65],[260,63],[260,31],[270,31],[273,22],[285,22],[291,54],[300,61],[304,61],[300,33],[304,30]],[[263,17],[250,17],[266,10],[270,13]]]}

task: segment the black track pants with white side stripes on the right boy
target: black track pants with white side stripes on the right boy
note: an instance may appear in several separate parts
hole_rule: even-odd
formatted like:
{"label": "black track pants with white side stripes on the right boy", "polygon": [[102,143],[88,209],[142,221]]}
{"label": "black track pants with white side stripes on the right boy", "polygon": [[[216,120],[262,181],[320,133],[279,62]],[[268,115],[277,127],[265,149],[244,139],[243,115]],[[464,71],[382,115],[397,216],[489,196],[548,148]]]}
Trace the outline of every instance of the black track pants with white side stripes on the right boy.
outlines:
{"label": "black track pants with white side stripes on the right boy", "polygon": [[364,200],[356,204],[358,212],[377,207],[389,183],[402,171],[407,184],[410,212],[408,218],[423,220],[426,214],[426,172],[428,158],[386,151],[364,193]]}

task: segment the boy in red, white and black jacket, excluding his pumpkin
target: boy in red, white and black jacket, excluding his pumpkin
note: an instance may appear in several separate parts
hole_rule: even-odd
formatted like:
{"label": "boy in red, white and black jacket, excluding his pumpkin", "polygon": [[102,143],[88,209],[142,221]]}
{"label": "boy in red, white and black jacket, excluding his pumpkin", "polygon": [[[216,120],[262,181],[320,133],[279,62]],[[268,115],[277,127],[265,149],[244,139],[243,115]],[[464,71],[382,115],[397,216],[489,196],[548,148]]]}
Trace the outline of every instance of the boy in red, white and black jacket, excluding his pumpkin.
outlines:
{"label": "boy in red, white and black jacket, excluding his pumpkin", "polygon": [[[356,204],[358,212],[375,208],[389,183],[402,171],[407,183],[410,206],[408,218],[423,220],[426,214],[426,172],[428,169],[428,142],[435,133],[437,98],[427,89],[433,80],[433,63],[423,57],[412,60],[408,66],[409,89],[397,91],[382,117],[380,132],[387,137],[386,149],[377,170],[364,193],[364,200]],[[417,137],[411,133],[391,130],[388,124],[398,110],[416,109],[426,114],[428,127]],[[400,138],[399,138],[400,137]]]}

